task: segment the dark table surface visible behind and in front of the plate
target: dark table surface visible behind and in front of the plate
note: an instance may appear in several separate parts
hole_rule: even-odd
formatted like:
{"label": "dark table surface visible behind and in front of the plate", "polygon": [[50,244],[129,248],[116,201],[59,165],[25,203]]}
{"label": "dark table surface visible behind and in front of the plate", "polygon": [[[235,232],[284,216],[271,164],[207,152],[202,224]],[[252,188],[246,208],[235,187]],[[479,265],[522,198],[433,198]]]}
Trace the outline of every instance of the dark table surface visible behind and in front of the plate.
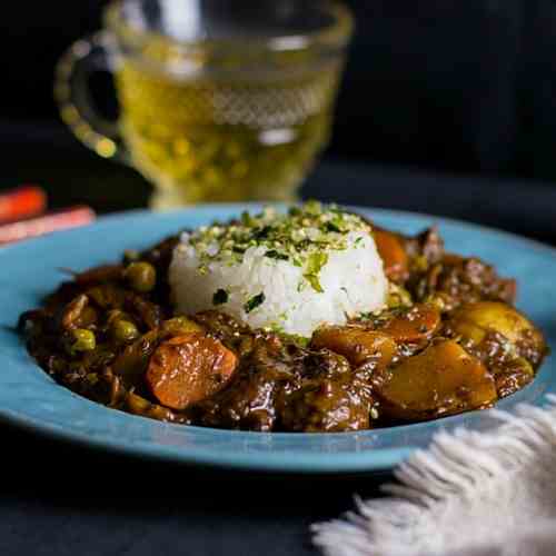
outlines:
{"label": "dark table surface visible behind and in front of the plate", "polygon": [[[51,205],[145,206],[132,170],[59,127],[0,125],[0,189],[43,185]],[[326,160],[304,195],[429,212],[556,244],[556,185]],[[0,270],[1,271],[1,270]],[[309,525],[378,496],[388,476],[280,477],[199,469],[75,447],[0,425],[0,554],[302,555]]]}

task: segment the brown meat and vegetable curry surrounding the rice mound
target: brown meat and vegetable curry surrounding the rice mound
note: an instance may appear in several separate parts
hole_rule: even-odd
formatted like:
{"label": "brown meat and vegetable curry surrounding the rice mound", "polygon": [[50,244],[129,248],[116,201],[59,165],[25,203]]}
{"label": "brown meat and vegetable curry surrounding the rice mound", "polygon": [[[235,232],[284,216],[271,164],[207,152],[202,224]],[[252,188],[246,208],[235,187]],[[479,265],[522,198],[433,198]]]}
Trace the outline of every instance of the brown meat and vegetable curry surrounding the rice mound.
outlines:
{"label": "brown meat and vegetable curry surrounding the rice mound", "polygon": [[175,316],[177,237],[72,274],[21,316],[28,349],[58,383],[108,407],[171,423],[346,431],[492,407],[547,353],[513,306],[516,285],[446,252],[436,229],[374,228],[388,307],[312,337],[252,330],[222,311]]}

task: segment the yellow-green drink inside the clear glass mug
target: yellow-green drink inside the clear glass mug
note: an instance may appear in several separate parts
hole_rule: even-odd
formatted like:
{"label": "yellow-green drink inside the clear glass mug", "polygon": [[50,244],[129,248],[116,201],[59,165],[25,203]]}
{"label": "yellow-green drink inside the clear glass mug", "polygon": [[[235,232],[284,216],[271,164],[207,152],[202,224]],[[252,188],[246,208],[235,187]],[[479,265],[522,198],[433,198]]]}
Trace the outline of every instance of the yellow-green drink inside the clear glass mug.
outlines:
{"label": "yellow-green drink inside the clear glass mug", "polygon": [[294,199],[328,140],[338,64],[279,79],[203,73],[179,78],[132,60],[116,73],[120,128],[132,165],[158,187],[155,206]]}

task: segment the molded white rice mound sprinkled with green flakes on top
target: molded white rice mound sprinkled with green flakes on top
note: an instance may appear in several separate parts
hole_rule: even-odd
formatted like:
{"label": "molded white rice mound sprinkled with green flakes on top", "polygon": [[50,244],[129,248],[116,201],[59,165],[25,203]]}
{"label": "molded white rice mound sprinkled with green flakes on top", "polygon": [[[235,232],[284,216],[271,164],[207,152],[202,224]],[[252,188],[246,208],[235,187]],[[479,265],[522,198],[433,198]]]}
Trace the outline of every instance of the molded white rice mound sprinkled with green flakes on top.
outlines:
{"label": "molded white rice mound sprinkled with green flakes on top", "polygon": [[[334,215],[336,221],[340,221],[338,212]],[[276,219],[284,218],[287,217],[270,212],[250,225],[259,226],[256,229],[262,225],[268,228]],[[294,241],[295,246],[309,245],[306,256],[300,247],[291,248],[289,240],[280,244],[274,239],[250,245],[238,257],[230,249],[234,246],[229,240],[225,242],[220,238],[241,236],[235,236],[234,230],[230,235],[229,229],[221,231],[222,227],[216,239],[208,241],[207,237],[211,236],[207,236],[206,229],[183,234],[169,270],[177,312],[191,315],[217,308],[252,328],[309,337],[322,324],[342,325],[349,317],[384,308],[388,282],[368,224],[349,215],[346,219],[349,226],[346,225],[342,232],[322,232],[319,230],[338,229],[329,225],[324,228],[322,220],[326,225],[326,217],[317,214],[315,218],[294,222],[294,240],[314,238],[305,244]],[[307,226],[304,227],[304,222]],[[202,234],[203,240],[200,240]],[[281,238],[284,234],[280,234],[275,236]],[[269,246],[272,249],[269,250]],[[275,252],[285,255],[278,257]],[[319,261],[318,268],[315,260]]]}

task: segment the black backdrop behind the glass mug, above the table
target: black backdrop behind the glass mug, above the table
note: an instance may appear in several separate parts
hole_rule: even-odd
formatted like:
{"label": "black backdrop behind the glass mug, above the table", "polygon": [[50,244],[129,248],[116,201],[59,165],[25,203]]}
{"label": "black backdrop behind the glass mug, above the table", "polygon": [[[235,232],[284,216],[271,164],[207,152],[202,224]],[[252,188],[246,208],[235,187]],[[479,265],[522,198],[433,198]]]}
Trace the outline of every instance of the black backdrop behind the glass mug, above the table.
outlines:
{"label": "black backdrop behind the glass mug, above the table", "polygon": [[[556,176],[555,2],[348,3],[357,36],[329,156],[457,173]],[[40,132],[39,123],[61,130],[51,95],[54,61],[101,26],[105,4],[10,2],[0,22],[4,139],[13,130],[8,123],[32,123],[28,136],[33,127]]]}

